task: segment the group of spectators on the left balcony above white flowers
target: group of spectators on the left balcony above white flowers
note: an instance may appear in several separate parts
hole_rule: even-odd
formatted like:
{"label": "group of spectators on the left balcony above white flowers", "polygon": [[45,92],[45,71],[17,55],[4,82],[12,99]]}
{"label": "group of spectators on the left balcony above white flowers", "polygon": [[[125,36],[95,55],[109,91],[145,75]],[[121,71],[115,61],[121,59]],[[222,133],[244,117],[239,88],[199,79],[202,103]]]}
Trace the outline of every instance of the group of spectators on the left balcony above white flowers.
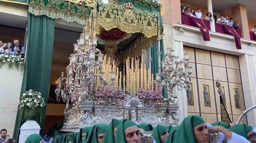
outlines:
{"label": "group of spectators on the left balcony above white flowers", "polygon": [[13,41],[13,44],[11,42],[4,43],[0,40],[0,54],[24,55],[25,48],[20,45],[19,40],[17,39]]}

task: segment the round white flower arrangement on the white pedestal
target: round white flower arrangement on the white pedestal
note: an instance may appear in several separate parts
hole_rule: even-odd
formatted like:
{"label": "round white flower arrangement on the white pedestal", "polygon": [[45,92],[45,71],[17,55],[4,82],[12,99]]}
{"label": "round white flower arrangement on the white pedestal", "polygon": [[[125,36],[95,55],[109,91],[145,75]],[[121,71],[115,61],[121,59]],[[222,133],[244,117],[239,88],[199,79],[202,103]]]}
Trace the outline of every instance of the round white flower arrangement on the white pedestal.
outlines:
{"label": "round white flower arrangement on the white pedestal", "polygon": [[[22,94],[20,97],[20,108],[22,117],[25,120],[31,119],[36,113],[42,113],[45,107],[45,102],[40,92],[29,90]],[[41,118],[40,118],[41,119]]]}

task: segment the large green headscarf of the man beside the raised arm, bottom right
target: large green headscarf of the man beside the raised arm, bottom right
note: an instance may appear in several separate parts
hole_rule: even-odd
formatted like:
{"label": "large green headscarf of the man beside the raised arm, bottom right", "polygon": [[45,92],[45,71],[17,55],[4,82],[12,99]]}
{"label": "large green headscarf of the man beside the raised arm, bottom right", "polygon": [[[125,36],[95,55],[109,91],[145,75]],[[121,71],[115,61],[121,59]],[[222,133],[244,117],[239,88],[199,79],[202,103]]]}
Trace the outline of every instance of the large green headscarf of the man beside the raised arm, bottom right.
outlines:
{"label": "large green headscarf of the man beside the raised arm, bottom right", "polygon": [[[205,123],[203,118],[198,115],[187,116],[181,123],[177,135],[180,143],[196,143],[193,128]],[[176,139],[175,139],[176,140]],[[175,142],[173,142],[175,143]]]}

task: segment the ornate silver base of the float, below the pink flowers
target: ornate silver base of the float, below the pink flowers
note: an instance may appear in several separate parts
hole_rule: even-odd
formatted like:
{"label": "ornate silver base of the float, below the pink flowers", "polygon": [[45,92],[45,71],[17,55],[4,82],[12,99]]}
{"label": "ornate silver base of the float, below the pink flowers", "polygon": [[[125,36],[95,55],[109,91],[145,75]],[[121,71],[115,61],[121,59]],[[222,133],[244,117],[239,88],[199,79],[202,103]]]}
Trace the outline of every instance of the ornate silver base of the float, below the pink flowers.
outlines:
{"label": "ornate silver base of the float, below the pink flowers", "polygon": [[66,112],[65,123],[60,131],[75,132],[85,126],[109,124],[112,119],[130,119],[136,123],[149,123],[152,126],[178,125],[178,105],[166,107],[145,107],[138,98],[130,98],[124,105],[96,105],[81,102]]}

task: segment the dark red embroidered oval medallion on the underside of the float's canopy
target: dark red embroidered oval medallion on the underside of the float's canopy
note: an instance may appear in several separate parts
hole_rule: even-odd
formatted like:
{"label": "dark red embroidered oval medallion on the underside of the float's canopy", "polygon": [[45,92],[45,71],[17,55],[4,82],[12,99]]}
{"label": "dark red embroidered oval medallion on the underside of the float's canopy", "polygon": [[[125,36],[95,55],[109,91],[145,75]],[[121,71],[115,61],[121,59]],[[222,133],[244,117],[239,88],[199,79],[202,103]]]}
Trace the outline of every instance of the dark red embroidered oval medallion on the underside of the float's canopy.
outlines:
{"label": "dark red embroidered oval medallion on the underside of the float's canopy", "polygon": [[122,39],[126,36],[126,32],[118,29],[118,28],[113,28],[110,30],[103,30],[100,32],[100,38],[102,40],[119,40]]}

